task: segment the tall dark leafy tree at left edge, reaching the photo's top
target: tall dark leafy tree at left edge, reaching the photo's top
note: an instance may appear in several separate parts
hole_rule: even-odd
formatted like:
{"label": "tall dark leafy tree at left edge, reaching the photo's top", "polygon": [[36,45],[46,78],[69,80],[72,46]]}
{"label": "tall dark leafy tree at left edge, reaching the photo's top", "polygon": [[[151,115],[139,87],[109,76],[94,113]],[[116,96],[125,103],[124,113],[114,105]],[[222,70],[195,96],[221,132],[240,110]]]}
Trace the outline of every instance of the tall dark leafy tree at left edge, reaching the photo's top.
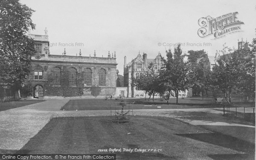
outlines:
{"label": "tall dark leafy tree at left edge, reaching the photo's top", "polygon": [[26,33],[35,29],[34,11],[19,0],[0,3],[0,87],[17,91],[29,74],[34,41]]}

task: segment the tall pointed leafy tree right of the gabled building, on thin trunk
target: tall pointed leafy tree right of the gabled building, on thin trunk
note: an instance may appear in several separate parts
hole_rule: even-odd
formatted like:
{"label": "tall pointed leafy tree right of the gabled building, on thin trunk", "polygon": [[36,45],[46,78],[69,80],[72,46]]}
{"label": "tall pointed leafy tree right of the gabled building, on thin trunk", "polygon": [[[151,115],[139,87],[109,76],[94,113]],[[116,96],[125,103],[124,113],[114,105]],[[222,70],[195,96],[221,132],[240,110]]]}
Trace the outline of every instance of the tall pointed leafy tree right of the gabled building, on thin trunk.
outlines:
{"label": "tall pointed leafy tree right of the gabled building, on thin trunk", "polygon": [[167,59],[163,58],[165,68],[162,74],[165,77],[165,83],[175,92],[177,104],[179,91],[184,91],[188,88],[189,66],[188,63],[184,61],[185,55],[182,54],[180,44],[175,48],[173,54],[170,49],[169,52],[166,51],[166,56]]}

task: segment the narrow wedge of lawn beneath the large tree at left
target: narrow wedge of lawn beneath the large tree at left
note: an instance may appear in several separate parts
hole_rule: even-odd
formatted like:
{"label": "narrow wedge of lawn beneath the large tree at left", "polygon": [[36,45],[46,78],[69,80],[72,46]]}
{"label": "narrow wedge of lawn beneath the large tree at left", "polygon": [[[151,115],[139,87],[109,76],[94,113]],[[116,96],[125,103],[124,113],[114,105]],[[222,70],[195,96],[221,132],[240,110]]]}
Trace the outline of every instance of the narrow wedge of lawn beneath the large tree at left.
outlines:
{"label": "narrow wedge of lawn beneath the large tree at left", "polygon": [[32,105],[39,102],[44,102],[45,100],[37,100],[37,99],[26,99],[19,101],[11,101],[11,102],[0,102],[0,111],[9,110],[12,108],[22,107],[25,105]]}

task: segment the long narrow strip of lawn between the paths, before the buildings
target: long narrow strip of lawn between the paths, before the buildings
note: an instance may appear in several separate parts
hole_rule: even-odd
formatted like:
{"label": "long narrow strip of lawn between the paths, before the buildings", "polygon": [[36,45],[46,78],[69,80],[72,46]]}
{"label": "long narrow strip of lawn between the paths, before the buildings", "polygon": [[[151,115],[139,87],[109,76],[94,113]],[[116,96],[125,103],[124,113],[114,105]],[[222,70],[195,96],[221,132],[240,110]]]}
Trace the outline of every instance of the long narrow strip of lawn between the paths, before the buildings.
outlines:
{"label": "long narrow strip of lawn between the paths, before the buildings", "polygon": [[[119,105],[119,100],[105,100],[105,99],[72,99],[67,102],[61,110],[66,111],[82,111],[82,110],[110,110],[113,109],[116,105],[116,108],[122,108]],[[143,99],[125,99],[123,102],[132,103],[135,102],[133,105],[130,105],[130,109],[187,109],[187,108],[222,108],[223,105],[217,105],[209,100],[190,100],[190,99],[180,99],[182,102],[179,105],[176,104],[167,104],[165,102],[147,102]],[[115,103],[115,104],[114,104]],[[111,107],[110,107],[111,106]],[[157,108],[157,106],[161,106],[161,108]],[[128,109],[128,106],[125,107]]]}

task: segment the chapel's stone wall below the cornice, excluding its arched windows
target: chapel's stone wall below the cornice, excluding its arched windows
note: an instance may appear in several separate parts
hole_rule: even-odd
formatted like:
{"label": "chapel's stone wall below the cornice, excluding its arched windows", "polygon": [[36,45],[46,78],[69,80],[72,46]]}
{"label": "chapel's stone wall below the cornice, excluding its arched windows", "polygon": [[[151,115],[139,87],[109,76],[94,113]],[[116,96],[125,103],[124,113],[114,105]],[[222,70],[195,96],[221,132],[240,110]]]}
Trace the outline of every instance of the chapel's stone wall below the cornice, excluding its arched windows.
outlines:
{"label": "chapel's stone wall below the cornice, excluding its arched windows", "polygon": [[[60,85],[54,85],[53,69],[58,67],[61,71]],[[76,70],[76,86],[70,86],[70,80],[67,70],[74,68]],[[92,73],[92,85],[85,86],[82,81],[82,72],[89,68]],[[99,70],[106,71],[106,85],[99,86]],[[43,79],[34,79],[34,71],[43,71]],[[33,61],[31,65],[31,72],[25,84],[31,86],[32,95],[34,94],[34,87],[40,85],[44,89],[44,96],[109,96],[116,92],[116,65],[108,64],[70,64],[63,62],[47,62],[47,61]]]}

